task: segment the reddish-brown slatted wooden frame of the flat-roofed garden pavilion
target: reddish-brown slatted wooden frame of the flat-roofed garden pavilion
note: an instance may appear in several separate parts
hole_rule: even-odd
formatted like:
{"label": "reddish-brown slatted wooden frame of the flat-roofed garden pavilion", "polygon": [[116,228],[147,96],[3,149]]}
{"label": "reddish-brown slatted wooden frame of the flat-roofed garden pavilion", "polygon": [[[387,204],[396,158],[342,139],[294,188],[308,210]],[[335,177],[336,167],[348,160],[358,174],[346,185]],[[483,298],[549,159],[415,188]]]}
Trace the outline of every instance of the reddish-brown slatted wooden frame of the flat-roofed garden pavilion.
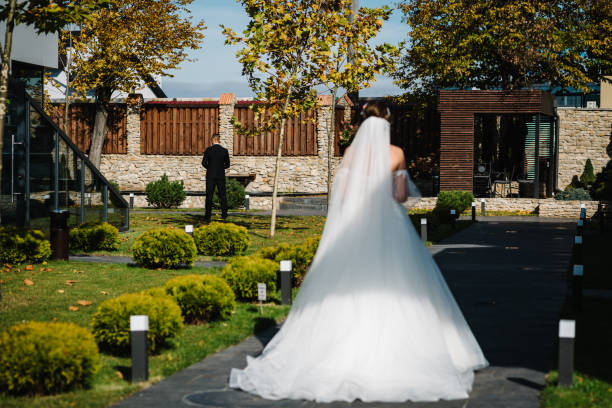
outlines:
{"label": "reddish-brown slatted wooden frame of the flat-roofed garden pavilion", "polygon": [[[440,91],[438,111],[441,121],[440,190],[446,191],[473,191],[475,115],[534,115],[535,157],[539,158],[540,118],[542,115],[551,118],[555,114],[554,96],[540,90]],[[536,165],[534,197],[539,197],[538,168]],[[552,170],[549,169],[550,174]],[[552,186],[549,187],[552,189]]]}

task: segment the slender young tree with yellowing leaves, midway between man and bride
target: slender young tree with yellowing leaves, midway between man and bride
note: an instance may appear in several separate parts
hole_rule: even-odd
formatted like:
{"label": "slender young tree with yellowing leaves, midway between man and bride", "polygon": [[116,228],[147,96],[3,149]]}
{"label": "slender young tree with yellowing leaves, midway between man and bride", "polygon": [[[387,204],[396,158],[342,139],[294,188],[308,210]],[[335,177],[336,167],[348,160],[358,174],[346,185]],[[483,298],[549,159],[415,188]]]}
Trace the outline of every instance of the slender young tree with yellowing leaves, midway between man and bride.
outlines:
{"label": "slender young tree with yellowing leaves, midway between man and bride", "polygon": [[319,61],[330,53],[328,37],[319,19],[335,7],[320,0],[237,0],[250,17],[242,35],[223,27],[226,44],[244,46],[236,53],[242,72],[257,95],[253,105],[260,120],[257,129],[235,122],[238,131],[258,134],[280,128],[272,192],[270,236],[274,236],[278,208],[278,180],[287,118],[316,106],[314,86],[319,83]]}

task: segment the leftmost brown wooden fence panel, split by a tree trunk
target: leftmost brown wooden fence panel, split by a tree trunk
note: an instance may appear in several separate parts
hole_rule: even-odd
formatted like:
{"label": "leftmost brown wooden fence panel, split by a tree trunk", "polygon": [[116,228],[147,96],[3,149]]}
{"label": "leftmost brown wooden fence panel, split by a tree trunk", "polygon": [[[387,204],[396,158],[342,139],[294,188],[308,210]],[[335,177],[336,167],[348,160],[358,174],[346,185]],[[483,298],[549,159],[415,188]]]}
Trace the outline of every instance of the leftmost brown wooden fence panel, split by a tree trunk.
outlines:
{"label": "leftmost brown wooden fence panel, split by a tree trunk", "polygon": [[[60,129],[66,131],[64,126],[64,104],[51,105],[51,118]],[[96,105],[93,103],[73,103],[68,113],[68,136],[83,151],[88,152],[91,144],[91,135],[96,118]],[[126,106],[123,103],[113,104],[108,115],[108,134],[104,154],[127,153]]]}

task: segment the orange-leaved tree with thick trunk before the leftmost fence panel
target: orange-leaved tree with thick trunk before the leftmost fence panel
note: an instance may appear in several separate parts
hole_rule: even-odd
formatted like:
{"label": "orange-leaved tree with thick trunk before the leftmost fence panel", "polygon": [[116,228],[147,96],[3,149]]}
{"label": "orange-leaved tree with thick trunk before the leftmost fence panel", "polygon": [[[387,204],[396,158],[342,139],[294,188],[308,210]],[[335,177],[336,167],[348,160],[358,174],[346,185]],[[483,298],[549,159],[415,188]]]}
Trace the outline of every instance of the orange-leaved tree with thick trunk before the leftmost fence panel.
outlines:
{"label": "orange-leaved tree with thick trunk before the leftmost fence panel", "polygon": [[133,92],[156,75],[171,76],[204,38],[203,21],[191,20],[193,0],[111,0],[73,38],[73,87],[95,91],[96,117],[89,160],[98,167],[108,130],[108,108],[115,91]]}

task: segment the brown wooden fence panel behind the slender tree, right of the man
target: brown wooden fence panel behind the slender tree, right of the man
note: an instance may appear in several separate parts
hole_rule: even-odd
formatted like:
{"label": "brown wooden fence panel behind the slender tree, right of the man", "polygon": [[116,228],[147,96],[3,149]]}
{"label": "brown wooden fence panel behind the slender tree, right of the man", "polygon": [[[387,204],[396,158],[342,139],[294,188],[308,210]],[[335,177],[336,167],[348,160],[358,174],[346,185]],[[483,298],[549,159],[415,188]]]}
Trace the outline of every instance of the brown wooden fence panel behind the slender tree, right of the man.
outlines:
{"label": "brown wooden fence panel behind the slender tree, right of the man", "polygon": [[[234,117],[245,127],[255,128],[258,122],[249,106],[251,103],[238,103],[234,107]],[[309,156],[317,154],[316,111],[310,110],[298,117],[289,119],[285,125],[283,156]],[[234,156],[274,156],[280,129],[258,136],[246,136],[234,132]]]}

